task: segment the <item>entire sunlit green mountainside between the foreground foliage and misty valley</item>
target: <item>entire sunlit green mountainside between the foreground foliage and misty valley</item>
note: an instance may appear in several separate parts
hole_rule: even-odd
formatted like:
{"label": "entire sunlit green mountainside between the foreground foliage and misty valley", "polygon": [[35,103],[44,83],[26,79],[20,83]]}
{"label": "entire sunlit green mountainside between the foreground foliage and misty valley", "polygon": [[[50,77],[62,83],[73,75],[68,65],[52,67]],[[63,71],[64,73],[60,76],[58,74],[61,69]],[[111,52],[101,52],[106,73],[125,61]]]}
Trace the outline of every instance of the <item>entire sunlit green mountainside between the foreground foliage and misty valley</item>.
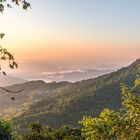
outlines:
{"label": "entire sunlit green mountainside between the foreground foliage and misty valley", "polygon": [[24,91],[14,94],[15,101],[9,100],[5,106],[9,95],[0,94],[0,110],[3,110],[0,115],[12,118],[15,127],[24,129],[30,121],[53,127],[76,125],[82,116],[96,116],[103,108],[118,110],[121,106],[120,83],[132,84],[138,64],[140,59],[116,72],[75,83],[31,81],[8,87]]}

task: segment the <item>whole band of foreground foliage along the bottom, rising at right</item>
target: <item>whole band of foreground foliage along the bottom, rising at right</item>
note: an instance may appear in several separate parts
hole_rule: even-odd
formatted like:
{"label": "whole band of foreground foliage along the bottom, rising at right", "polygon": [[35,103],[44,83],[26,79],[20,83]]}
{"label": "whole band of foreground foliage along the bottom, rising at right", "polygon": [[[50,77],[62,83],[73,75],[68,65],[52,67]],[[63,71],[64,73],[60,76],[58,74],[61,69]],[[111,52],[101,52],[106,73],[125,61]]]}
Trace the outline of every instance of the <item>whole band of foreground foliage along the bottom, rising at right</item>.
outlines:
{"label": "whole band of foreground foliage along the bottom, rising at right", "polygon": [[[14,140],[138,140],[140,139],[140,65],[133,85],[120,84],[121,109],[105,108],[99,116],[83,116],[80,127],[62,126],[52,128],[32,122],[26,133],[15,133],[12,126],[0,121],[0,139]],[[58,120],[59,121],[59,120]]]}

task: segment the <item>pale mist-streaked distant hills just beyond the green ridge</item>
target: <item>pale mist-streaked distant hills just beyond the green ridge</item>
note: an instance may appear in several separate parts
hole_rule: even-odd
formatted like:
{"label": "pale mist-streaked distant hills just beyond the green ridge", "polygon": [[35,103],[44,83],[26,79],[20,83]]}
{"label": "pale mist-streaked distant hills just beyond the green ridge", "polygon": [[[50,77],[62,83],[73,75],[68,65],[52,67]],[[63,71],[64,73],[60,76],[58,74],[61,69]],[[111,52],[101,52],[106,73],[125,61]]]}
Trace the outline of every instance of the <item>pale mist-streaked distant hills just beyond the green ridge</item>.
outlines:
{"label": "pale mist-streaked distant hills just beyond the green ridge", "polygon": [[91,69],[91,68],[75,68],[69,70],[63,70],[59,72],[43,72],[40,78],[48,81],[70,81],[76,82],[83,79],[95,78],[97,76],[110,73],[112,69]]}

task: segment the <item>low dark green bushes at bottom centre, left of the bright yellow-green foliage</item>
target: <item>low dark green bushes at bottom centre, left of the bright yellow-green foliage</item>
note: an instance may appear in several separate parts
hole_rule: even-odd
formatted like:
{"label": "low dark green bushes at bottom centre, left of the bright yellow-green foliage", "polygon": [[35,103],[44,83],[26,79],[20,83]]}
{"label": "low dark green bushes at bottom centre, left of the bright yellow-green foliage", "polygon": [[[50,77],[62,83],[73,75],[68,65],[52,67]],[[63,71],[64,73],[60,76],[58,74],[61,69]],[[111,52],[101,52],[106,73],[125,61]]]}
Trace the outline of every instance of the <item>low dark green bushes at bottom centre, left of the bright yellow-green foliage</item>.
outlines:
{"label": "low dark green bushes at bottom centre, left of the bright yellow-green foliage", "polygon": [[83,140],[81,130],[69,126],[53,129],[41,126],[39,123],[31,123],[29,131],[23,135],[23,140]]}

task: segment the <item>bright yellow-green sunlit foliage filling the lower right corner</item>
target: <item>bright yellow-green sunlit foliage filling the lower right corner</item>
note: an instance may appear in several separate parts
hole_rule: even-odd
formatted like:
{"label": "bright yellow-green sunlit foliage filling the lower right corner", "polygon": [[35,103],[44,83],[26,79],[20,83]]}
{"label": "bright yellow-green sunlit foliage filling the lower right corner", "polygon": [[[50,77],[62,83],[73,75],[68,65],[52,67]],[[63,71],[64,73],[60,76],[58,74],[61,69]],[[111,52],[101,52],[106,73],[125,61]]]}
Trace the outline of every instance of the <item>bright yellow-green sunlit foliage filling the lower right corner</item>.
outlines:
{"label": "bright yellow-green sunlit foliage filling the lower right corner", "polygon": [[140,139],[140,66],[138,66],[138,78],[134,86],[121,84],[122,106],[119,112],[104,109],[99,117],[83,117],[80,122],[86,140],[116,139],[137,140]]}

